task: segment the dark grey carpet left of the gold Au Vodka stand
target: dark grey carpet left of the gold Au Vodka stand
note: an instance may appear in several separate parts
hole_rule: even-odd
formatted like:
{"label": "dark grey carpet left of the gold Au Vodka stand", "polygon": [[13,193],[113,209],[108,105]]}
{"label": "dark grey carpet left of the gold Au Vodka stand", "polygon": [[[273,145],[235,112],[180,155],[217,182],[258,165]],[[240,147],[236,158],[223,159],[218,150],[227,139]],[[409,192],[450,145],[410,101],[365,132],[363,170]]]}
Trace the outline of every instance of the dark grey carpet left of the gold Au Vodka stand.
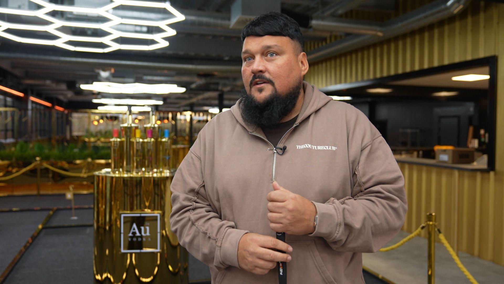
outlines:
{"label": "dark grey carpet left of the gold Au Vodka stand", "polygon": [[[47,213],[48,211],[0,212],[0,224],[8,228],[0,230],[0,240],[3,240],[0,243],[0,272],[11,262]],[[93,209],[76,209],[75,213],[78,219],[71,220],[72,210],[56,210],[47,225],[93,222]],[[203,284],[210,279],[208,266],[192,255],[189,256],[189,271],[191,282]],[[93,227],[44,228],[5,281],[35,282],[93,283]]]}

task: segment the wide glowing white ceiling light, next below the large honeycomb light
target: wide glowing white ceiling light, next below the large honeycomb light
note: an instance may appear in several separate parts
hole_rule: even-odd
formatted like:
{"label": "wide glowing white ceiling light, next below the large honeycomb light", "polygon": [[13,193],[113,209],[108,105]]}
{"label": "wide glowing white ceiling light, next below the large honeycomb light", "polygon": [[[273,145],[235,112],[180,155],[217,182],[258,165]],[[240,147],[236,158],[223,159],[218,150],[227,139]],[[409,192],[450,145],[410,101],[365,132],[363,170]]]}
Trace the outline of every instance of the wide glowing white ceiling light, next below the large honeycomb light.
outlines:
{"label": "wide glowing white ceiling light, next below the large honeycomb light", "polygon": [[184,92],[185,88],[178,87],[175,84],[142,84],[130,83],[120,84],[112,82],[94,82],[92,84],[83,84],[81,89],[94,90],[108,93],[171,93]]}

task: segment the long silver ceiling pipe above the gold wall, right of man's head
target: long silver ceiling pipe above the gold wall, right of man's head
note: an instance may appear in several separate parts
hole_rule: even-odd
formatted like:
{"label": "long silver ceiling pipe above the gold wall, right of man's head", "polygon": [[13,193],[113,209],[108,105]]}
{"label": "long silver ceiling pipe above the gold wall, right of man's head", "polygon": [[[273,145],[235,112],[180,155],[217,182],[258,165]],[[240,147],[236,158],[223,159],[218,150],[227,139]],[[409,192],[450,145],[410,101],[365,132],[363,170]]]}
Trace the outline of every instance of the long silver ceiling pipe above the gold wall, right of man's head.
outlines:
{"label": "long silver ceiling pipe above the gold wall, right of man's head", "polygon": [[308,62],[321,61],[449,18],[463,11],[469,6],[470,2],[470,0],[438,0],[432,2],[385,22],[382,28],[383,36],[381,37],[369,34],[347,36],[308,52]]}

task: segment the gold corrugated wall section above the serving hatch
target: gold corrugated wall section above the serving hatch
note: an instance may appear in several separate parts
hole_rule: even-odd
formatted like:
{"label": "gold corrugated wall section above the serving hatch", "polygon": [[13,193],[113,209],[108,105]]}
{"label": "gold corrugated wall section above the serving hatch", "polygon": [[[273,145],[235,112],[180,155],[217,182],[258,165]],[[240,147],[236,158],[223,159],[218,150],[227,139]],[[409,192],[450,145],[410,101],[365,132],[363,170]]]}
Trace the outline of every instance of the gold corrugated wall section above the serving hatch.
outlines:
{"label": "gold corrugated wall section above the serving hatch", "polygon": [[[305,78],[323,87],[329,82],[351,82],[352,74],[355,74],[355,80],[361,81],[495,55],[499,6],[501,4],[472,2],[455,17],[334,57],[343,59],[343,66],[336,70],[346,71],[346,76],[333,75],[330,65],[324,66],[333,60],[328,59],[310,64]],[[339,38],[331,36],[324,41],[306,42],[305,51]],[[363,61],[356,64],[352,58],[358,57],[359,53]],[[357,72],[357,68],[366,70]],[[323,84],[324,80],[326,84]]]}

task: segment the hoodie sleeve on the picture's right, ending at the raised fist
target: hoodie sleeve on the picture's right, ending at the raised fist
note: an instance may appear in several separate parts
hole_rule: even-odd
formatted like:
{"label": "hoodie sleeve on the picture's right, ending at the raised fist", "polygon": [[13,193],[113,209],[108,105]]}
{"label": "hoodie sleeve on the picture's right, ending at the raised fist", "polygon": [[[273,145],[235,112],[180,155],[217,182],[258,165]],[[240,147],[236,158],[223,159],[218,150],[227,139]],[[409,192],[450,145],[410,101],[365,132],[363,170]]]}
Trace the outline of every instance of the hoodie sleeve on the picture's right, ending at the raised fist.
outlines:
{"label": "hoodie sleeve on the picture's right, ending at the raised fist", "polygon": [[377,136],[355,143],[360,153],[356,154],[352,193],[358,193],[341,200],[331,198],[325,204],[313,202],[319,220],[309,235],[321,236],[341,252],[376,252],[401,229],[407,209],[404,177],[389,145],[365,116],[360,123],[364,125],[360,130],[367,130],[363,136]]}

